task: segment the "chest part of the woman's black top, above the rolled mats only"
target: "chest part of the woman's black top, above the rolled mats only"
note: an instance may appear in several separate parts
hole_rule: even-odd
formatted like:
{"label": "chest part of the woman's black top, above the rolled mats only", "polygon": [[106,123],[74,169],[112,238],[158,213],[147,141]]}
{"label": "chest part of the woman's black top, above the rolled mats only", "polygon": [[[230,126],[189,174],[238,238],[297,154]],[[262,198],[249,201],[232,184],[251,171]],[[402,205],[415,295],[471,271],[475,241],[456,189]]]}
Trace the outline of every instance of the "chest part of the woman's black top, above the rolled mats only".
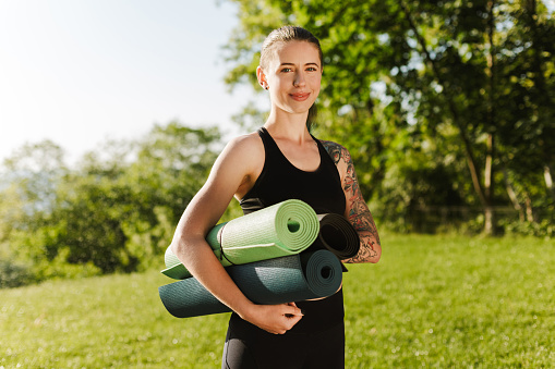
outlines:
{"label": "chest part of the woman's black top, above the rolled mats only", "polygon": [[288,199],[309,204],[318,214],[345,214],[345,194],[337,167],[319,140],[312,137],[319,151],[319,167],[305,172],[294,167],[279,150],[265,127],[258,130],[264,143],[265,161],[254,186],[241,199],[243,213],[269,207]]}

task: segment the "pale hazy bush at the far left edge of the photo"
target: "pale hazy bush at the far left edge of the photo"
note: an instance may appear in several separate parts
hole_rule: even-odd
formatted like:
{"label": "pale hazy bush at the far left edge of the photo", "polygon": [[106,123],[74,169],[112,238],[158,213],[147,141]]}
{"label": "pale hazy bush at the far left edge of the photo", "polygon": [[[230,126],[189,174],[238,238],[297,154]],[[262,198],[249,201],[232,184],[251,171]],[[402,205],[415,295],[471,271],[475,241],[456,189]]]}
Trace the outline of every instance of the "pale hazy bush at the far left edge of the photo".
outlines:
{"label": "pale hazy bush at the far left edge of the photo", "polygon": [[64,152],[51,140],[25,144],[0,168],[0,287],[36,279],[45,258],[44,232],[52,219],[56,188],[68,173]]}

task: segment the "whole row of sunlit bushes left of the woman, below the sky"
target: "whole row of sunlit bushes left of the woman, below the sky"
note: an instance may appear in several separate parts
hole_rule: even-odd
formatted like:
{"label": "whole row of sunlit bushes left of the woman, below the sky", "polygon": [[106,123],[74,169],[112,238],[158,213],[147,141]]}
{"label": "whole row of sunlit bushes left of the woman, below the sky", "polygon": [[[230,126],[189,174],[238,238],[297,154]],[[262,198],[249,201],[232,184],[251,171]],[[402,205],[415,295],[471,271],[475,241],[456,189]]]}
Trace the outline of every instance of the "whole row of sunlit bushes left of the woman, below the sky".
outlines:
{"label": "whole row of sunlit bushes left of the woman, below the sky", "polygon": [[52,143],[24,147],[5,163],[2,258],[31,265],[29,280],[148,268],[169,245],[218,144],[215,128],[172,122],[136,142],[108,142],[75,169],[61,155],[45,156],[60,152]]}

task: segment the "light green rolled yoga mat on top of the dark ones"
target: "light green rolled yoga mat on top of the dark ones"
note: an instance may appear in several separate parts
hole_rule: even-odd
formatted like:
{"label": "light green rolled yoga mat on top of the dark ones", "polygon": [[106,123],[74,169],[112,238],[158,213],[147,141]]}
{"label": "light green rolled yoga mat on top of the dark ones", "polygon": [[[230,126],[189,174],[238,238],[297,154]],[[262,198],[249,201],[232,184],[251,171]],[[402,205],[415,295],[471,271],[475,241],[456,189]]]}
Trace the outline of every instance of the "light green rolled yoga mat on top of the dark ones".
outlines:
{"label": "light green rolled yoga mat on top of the dark ones", "polygon": [[[224,267],[299,254],[316,239],[319,223],[316,212],[301,200],[286,200],[216,225],[206,241]],[[166,249],[167,269],[161,272],[176,280],[191,273]]]}

